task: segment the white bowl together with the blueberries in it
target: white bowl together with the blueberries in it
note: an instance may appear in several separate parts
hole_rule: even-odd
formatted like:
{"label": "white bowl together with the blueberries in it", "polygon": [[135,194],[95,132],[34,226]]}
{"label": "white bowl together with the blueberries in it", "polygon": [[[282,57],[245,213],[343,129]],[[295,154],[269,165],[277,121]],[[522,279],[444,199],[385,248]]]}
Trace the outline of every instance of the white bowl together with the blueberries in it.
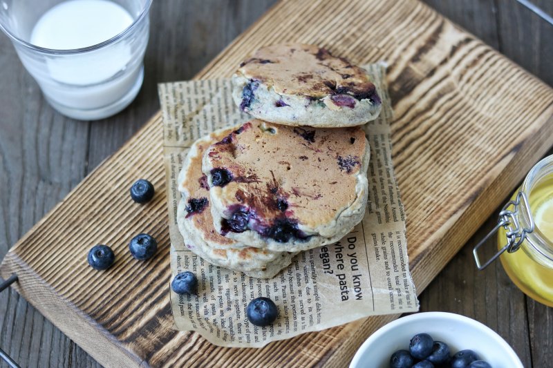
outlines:
{"label": "white bowl together with the blueberries in it", "polygon": [[503,338],[455,313],[425,312],[399,318],[361,345],[350,368],[523,368]]}

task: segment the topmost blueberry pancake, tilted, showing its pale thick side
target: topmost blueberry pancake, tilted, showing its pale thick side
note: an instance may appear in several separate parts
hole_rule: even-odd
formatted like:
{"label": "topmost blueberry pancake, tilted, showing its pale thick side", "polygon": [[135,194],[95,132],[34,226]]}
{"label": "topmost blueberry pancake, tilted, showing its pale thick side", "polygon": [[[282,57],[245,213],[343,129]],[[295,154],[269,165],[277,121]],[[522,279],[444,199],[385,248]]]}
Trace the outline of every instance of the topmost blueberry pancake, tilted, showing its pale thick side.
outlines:
{"label": "topmost blueberry pancake, tilted, showing its pale thick side", "polygon": [[313,45],[261,48],[232,81],[234,102],[266,122],[335,128],[365,124],[380,113],[366,71]]}

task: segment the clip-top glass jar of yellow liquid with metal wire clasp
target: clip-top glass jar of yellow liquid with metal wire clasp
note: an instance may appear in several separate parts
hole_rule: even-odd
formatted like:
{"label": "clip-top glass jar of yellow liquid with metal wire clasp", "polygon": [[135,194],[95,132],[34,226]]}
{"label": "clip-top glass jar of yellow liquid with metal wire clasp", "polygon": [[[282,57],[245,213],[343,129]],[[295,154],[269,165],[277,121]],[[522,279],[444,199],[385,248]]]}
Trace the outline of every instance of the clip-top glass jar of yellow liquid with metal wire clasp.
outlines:
{"label": "clip-top glass jar of yellow liquid with metal wire clasp", "polygon": [[[498,252],[480,265],[478,248],[495,231]],[[509,278],[530,298],[553,307],[553,155],[529,171],[499,214],[498,225],[474,247],[478,269],[500,257]]]}

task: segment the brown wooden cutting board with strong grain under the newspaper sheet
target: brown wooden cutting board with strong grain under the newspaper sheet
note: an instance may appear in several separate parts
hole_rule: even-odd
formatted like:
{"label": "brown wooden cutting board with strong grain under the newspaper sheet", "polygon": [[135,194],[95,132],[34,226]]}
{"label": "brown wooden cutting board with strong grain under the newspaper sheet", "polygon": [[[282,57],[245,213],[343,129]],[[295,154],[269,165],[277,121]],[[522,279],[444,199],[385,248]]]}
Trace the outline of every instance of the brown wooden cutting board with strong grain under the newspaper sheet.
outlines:
{"label": "brown wooden cutting board with strong grain under the newspaper sheet", "polygon": [[[388,62],[393,162],[419,293],[553,145],[553,90],[415,0],[283,1],[197,78],[228,77],[252,50],[285,41],[317,43],[359,64]],[[156,114],[19,240],[2,277],[17,274],[17,291],[108,367],[347,365],[392,316],[263,349],[216,347],[171,329],[160,119]],[[129,199],[139,177],[156,186],[145,206]],[[125,256],[128,240],[142,231],[161,244],[150,262]],[[109,271],[86,264],[97,243],[118,255]]]}

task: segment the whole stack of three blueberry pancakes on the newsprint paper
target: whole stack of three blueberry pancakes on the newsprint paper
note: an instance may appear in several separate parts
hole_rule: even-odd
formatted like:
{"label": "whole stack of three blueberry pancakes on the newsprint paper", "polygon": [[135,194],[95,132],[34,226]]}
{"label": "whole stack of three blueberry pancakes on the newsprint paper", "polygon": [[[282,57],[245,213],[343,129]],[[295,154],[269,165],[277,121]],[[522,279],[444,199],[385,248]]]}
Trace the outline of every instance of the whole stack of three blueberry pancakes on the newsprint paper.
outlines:
{"label": "whole stack of three blueberry pancakes on the newsprint paper", "polygon": [[360,125],[380,99],[365,70],[305,44],[261,48],[233,82],[254,119],[191,147],[178,226],[207,262],[271,278],[363,219],[370,151]]}

